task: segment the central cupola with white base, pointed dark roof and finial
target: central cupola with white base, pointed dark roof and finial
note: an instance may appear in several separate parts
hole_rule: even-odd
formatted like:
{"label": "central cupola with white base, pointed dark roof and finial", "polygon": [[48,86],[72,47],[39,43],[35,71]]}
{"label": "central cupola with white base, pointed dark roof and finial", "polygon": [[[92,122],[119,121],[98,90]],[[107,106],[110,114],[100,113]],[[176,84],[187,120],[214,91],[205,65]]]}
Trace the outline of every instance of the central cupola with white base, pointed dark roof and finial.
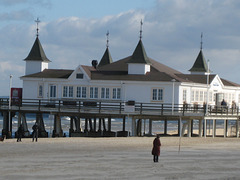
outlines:
{"label": "central cupola with white base, pointed dark roof and finial", "polygon": [[150,72],[150,61],[147,57],[147,53],[142,43],[142,21],[140,29],[140,40],[135,48],[128,63],[128,74],[146,74]]}

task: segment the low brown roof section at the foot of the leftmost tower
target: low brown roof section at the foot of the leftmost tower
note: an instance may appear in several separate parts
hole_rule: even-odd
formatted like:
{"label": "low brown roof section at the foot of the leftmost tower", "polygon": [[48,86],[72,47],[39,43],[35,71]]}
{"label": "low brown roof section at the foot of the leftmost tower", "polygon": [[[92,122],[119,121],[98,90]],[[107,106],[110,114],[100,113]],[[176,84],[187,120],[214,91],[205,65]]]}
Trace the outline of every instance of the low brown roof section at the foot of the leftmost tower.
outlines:
{"label": "low brown roof section at the foot of the leftmost tower", "polygon": [[74,70],[67,69],[44,69],[42,72],[29,74],[22,77],[31,77],[31,78],[63,78],[67,79]]}

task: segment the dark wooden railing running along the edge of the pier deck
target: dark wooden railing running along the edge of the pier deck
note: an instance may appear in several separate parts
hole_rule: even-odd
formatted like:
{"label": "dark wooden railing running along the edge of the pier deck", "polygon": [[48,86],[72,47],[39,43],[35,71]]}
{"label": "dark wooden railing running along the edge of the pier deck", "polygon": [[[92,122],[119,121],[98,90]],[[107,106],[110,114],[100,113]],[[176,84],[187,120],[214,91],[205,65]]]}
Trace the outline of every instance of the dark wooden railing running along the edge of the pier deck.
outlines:
{"label": "dark wooden railing running along the edge of the pier deck", "polygon": [[[130,108],[129,108],[130,107]],[[130,109],[130,110],[129,110]],[[98,114],[136,114],[136,115],[239,115],[239,107],[206,106],[196,104],[170,103],[141,103],[122,101],[96,100],[49,100],[22,99],[12,100],[9,109],[9,99],[0,99],[0,111],[28,111],[28,112],[69,112],[69,113],[98,113]]]}

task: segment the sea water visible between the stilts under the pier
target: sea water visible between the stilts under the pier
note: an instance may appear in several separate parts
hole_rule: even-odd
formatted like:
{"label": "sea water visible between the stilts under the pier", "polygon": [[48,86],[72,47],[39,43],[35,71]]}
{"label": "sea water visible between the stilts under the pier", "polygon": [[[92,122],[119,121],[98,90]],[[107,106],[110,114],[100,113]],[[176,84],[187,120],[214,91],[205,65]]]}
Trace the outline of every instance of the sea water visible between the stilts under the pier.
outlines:
{"label": "sea water visible between the stilts under the pier", "polygon": [[[26,114],[26,121],[27,121],[27,126],[28,126],[28,130],[30,133],[32,133],[32,126],[35,124],[36,122],[36,114],[31,114],[31,113],[27,113]],[[44,126],[45,126],[45,130],[48,132],[49,137],[51,137],[52,135],[52,131],[53,131],[53,127],[54,127],[54,119],[53,116],[50,114],[43,114],[43,121],[44,121]],[[105,119],[106,122],[106,128],[107,128],[107,119]],[[182,121],[183,123],[186,123],[187,121]],[[236,121],[228,121],[230,127],[234,126]],[[218,120],[217,121],[217,128],[223,128],[223,124],[224,121],[223,120]],[[63,116],[61,117],[61,125],[62,125],[62,129],[63,129],[63,133],[65,133],[65,135],[67,137],[69,137],[69,129],[70,129],[70,117],[67,116]],[[111,130],[114,132],[117,131],[122,131],[123,129],[123,120],[122,119],[111,119]],[[193,129],[198,129],[199,126],[199,121],[198,120],[194,120],[193,121]],[[15,137],[15,132],[17,131],[17,127],[18,127],[18,114],[16,114],[13,118],[12,118],[12,129],[13,129],[13,137]],[[97,128],[98,128],[98,121],[97,121]],[[212,122],[207,122],[207,128],[212,128]],[[2,133],[3,129],[3,116],[0,115],[0,135]],[[81,129],[84,130],[85,129],[85,120],[81,119]],[[132,119],[131,117],[126,117],[126,124],[125,124],[125,130],[129,131],[131,134],[132,131]],[[178,130],[178,121],[177,120],[171,120],[171,121],[167,121],[167,131],[176,131]],[[164,121],[152,121],[152,134],[158,134],[158,133],[163,133],[164,132]],[[149,120],[142,120],[142,133],[143,134],[149,134]]]}

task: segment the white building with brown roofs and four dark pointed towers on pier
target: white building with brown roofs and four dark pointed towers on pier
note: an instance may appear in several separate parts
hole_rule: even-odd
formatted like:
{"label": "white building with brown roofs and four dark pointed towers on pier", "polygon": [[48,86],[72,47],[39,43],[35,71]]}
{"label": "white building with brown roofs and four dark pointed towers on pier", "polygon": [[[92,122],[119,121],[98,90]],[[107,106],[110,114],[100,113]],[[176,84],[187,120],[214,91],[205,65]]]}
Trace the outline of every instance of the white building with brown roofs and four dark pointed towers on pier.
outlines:
{"label": "white building with brown roofs and four dark pointed towers on pier", "polygon": [[[143,103],[219,104],[240,103],[240,85],[208,74],[202,48],[189,70],[183,74],[151,59],[140,38],[132,55],[113,61],[107,46],[99,64],[75,69],[48,69],[51,62],[37,36],[25,58],[23,98],[107,100]],[[209,78],[209,80],[207,80]],[[209,88],[208,88],[209,83]],[[208,92],[208,93],[207,93]],[[208,95],[207,95],[208,94]]]}

